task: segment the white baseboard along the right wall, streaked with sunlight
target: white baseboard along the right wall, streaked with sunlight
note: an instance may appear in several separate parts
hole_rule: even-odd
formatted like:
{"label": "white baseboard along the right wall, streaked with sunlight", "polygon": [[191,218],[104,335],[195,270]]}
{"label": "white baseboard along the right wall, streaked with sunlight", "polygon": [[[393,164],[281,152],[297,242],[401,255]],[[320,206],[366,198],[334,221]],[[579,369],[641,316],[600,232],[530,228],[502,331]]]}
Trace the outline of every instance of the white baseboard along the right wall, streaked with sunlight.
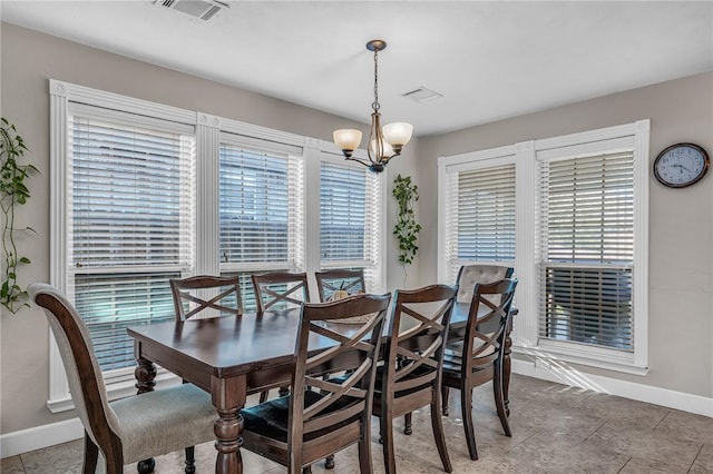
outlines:
{"label": "white baseboard along the right wall, streaked with sunlight", "polygon": [[713,398],[706,398],[700,395],[603,377],[600,375],[583,374],[574,368],[563,367],[561,364],[558,364],[556,367],[546,366],[539,368],[534,362],[514,358],[512,372],[515,374],[527,375],[528,377],[588,388],[595,392],[603,392],[624,398],[713,417]]}

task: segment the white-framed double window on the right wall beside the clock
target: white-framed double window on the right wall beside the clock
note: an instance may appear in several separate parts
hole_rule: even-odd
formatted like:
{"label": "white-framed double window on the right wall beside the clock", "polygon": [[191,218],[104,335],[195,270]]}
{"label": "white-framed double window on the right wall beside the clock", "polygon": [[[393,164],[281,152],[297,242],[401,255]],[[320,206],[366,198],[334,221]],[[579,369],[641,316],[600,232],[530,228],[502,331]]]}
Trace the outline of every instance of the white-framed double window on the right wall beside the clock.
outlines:
{"label": "white-framed double window on the right wall beside the clock", "polygon": [[439,160],[439,278],[469,261],[514,265],[514,350],[646,373],[648,128]]}

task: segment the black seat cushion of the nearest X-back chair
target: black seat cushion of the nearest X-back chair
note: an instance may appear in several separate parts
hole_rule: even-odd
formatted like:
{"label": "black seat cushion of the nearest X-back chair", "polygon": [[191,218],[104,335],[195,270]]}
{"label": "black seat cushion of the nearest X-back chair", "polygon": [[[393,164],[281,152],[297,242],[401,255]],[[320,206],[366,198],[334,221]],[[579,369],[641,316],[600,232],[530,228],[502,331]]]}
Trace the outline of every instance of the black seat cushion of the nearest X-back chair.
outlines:
{"label": "black seat cushion of the nearest X-back chair", "polygon": [[[304,392],[304,405],[311,406],[323,398],[323,395],[313,392],[305,391]],[[336,412],[338,409],[345,408],[354,403],[359,403],[360,399],[352,398],[348,396],[342,396],[331,406],[329,406],[321,415]],[[265,403],[261,403],[260,405],[251,406],[248,408],[243,408],[241,414],[243,415],[244,428],[245,431],[250,431],[252,433],[270,437],[272,440],[277,440],[282,443],[287,442],[287,419],[290,414],[290,404],[292,403],[292,395],[282,396],[280,398],[274,398],[267,401]],[[354,416],[345,422],[341,423],[339,426],[331,426],[328,429],[316,431],[313,433],[309,433],[305,435],[304,441],[314,440],[322,435],[328,434],[328,432],[334,431],[341,426],[345,426],[359,417]]]}

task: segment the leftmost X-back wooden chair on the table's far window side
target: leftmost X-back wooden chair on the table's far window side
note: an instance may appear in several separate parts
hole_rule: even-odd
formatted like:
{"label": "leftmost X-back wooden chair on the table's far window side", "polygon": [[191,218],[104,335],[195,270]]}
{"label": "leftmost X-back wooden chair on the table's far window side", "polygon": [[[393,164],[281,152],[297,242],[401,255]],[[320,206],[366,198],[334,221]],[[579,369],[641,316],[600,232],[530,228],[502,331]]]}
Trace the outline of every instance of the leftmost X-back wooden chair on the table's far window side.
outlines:
{"label": "leftmost X-back wooden chair on the table's far window side", "polygon": [[215,316],[243,314],[240,276],[198,275],[173,278],[168,283],[177,322],[206,313]]}

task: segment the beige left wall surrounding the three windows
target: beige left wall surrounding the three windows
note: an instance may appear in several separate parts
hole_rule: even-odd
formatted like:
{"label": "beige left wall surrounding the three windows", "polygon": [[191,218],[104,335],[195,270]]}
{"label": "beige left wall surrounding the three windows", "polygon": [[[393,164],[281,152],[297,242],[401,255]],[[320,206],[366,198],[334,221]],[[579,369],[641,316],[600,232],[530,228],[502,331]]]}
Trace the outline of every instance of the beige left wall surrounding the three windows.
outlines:
{"label": "beige left wall surrounding the three windows", "polygon": [[[29,181],[32,197],[21,209],[20,225],[31,226],[37,236],[21,245],[32,260],[23,268],[21,285],[49,280],[49,86],[48,79],[74,82],[139,99],[199,110],[221,117],[293,134],[331,140],[335,128],[362,128],[341,117],[296,106],[258,93],[183,75],[129,58],[60,40],[9,23],[0,23],[1,115],[16,124],[30,148],[27,158],[41,175]],[[364,103],[368,119],[369,103]],[[391,181],[397,172],[414,169],[409,146],[389,165],[387,255],[395,255],[390,228],[394,204]],[[409,278],[413,285],[419,275]],[[395,257],[388,257],[387,285],[403,283]],[[47,408],[48,326],[42,313],[32,308],[18,315],[7,310],[0,317],[0,432],[11,433],[75,417],[74,412],[52,415]]]}

